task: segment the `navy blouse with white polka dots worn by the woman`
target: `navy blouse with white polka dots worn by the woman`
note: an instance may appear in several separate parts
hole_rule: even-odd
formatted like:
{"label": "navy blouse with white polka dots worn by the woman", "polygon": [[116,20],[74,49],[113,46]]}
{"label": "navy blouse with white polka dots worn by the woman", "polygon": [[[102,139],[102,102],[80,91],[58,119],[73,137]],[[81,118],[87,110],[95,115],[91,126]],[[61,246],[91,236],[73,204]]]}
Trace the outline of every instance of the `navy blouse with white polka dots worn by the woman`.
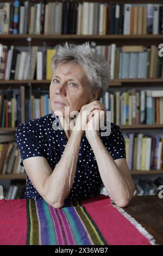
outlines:
{"label": "navy blouse with white polka dots worn by the woman", "polygon": [[[57,117],[51,113],[22,123],[17,127],[16,142],[22,161],[28,157],[42,156],[45,157],[52,169],[55,168],[67,144],[64,130],[58,129],[56,131],[52,128],[55,119]],[[120,126],[111,123],[110,135],[101,136],[99,132],[99,136],[114,160],[126,158],[124,137]],[[23,166],[22,161],[21,166]],[[80,143],[76,175],[67,199],[81,200],[97,196],[100,194],[102,184],[95,155],[84,132]],[[42,199],[28,175],[24,198]]]}

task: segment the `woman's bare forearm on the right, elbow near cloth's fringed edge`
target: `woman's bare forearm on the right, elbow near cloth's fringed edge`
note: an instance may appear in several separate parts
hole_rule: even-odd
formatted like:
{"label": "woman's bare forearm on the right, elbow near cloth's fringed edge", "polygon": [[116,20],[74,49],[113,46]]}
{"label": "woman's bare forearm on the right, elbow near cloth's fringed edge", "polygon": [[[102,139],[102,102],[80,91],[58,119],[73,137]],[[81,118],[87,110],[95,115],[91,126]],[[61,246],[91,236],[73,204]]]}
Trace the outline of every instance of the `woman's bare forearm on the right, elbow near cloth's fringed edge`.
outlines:
{"label": "woman's bare forearm on the right, elbow near cloth's fringed edge", "polygon": [[99,136],[90,138],[89,143],[95,154],[99,173],[109,196],[117,205],[122,206],[133,196],[133,181],[121,172]]}

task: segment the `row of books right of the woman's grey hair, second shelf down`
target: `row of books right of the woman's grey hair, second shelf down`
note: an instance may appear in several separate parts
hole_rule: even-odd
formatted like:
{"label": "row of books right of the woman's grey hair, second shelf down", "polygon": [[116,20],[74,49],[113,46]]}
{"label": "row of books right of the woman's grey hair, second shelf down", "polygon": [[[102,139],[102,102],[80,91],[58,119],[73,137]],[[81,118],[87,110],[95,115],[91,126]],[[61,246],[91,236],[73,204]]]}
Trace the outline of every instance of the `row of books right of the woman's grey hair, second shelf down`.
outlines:
{"label": "row of books right of the woman's grey hair, second shelf down", "polygon": [[110,63],[112,79],[163,78],[163,58],[160,46],[97,45],[93,50],[102,54]]}

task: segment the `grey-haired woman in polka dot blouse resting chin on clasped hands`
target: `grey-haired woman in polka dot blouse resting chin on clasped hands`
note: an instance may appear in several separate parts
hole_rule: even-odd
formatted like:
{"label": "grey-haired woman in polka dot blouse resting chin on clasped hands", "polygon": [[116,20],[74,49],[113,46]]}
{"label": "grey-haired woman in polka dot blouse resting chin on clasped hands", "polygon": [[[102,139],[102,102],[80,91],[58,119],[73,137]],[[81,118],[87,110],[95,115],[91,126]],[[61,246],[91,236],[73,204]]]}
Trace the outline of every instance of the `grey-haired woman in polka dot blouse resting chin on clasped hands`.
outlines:
{"label": "grey-haired woman in polka dot blouse resting chin on clasped hands", "polygon": [[[118,206],[127,206],[134,183],[122,131],[111,123],[109,136],[100,132],[99,113],[104,116],[106,109],[98,99],[108,88],[108,62],[89,43],[66,42],[58,46],[52,68],[49,94],[53,113],[22,123],[16,131],[21,166],[27,173],[24,198],[44,199],[61,208],[67,198],[97,196],[104,185]],[[54,129],[58,119],[60,125]]]}

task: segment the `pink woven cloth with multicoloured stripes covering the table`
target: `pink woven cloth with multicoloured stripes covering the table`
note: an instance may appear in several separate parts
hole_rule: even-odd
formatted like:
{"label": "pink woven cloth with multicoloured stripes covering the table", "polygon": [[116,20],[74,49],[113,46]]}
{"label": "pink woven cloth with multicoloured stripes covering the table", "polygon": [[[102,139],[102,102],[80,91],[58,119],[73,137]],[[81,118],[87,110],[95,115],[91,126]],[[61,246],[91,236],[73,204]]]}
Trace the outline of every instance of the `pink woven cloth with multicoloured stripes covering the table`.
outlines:
{"label": "pink woven cloth with multicoloured stripes covering the table", "polygon": [[0,201],[1,245],[150,245],[108,196],[65,200],[55,209],[43,200]]}

